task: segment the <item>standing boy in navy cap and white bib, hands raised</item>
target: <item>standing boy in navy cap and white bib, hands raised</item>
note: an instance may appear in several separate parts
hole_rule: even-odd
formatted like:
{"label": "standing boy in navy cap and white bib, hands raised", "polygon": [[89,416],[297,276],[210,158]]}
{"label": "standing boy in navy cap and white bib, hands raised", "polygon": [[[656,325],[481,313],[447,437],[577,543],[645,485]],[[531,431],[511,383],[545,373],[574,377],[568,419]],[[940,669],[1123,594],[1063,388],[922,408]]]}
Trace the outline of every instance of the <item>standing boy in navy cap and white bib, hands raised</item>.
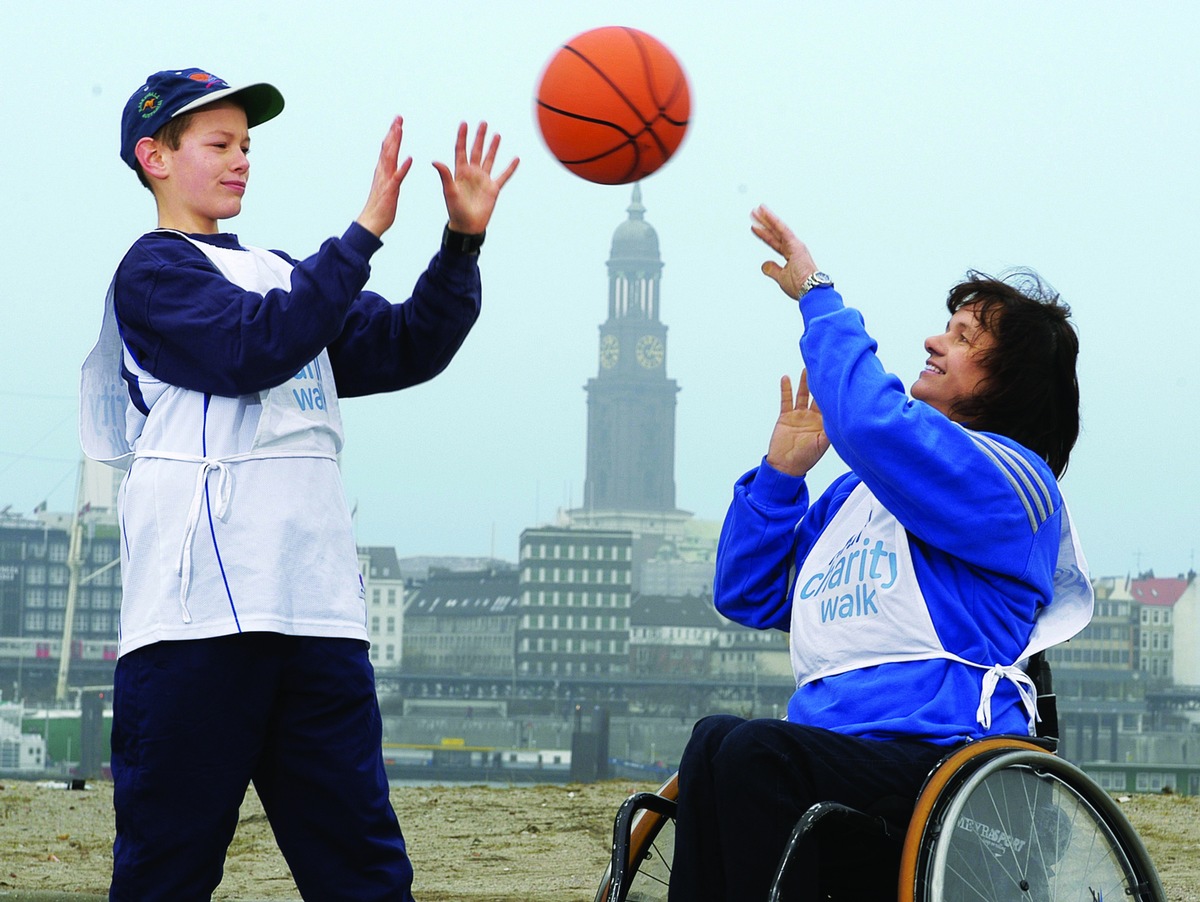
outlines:
{"label": "standing boy in navy cap and white bib, hands raised", "polygon": [[412,299],[364,290],[412,158],[384,138],[366,205],[312,257],[244,247],[250,128],[271,85],[151,76],[121,119],[121,160],[158,228],[118,267],[83,368],[80,435],[121,486],[114,676],[113,900],[206,900],[250,781],[300,892],[410,900],[388,799],[366,611],[337,469],[338,397],[437,375],[480,305],[479,247],[499,144],[460,125],[434,163],[449,222]]}

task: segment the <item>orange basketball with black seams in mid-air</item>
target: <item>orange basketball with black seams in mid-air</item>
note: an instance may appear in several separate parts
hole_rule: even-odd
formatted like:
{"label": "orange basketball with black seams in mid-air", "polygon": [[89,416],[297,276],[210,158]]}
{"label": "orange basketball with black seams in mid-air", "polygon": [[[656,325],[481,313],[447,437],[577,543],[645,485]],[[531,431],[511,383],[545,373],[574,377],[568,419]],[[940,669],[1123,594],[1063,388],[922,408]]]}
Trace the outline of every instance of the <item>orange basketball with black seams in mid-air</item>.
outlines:
{"label": "orange basketball with black seams in mid-air", "polygon": [[678,150],[690,110],[688,77],[674,54],[619,25],[572,37],[538,85],[538,127],[550,152],[601,185],[658,170]]}

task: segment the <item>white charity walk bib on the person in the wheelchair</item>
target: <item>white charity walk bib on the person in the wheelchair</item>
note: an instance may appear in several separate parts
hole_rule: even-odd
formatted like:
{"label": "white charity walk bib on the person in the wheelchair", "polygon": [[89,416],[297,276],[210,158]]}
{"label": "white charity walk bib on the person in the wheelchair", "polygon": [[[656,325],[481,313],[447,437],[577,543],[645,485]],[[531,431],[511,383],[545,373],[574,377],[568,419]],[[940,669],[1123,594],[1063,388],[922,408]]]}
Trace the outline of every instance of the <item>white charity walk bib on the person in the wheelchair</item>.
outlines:
{"label": "white charity walk bib on the person in the wheelchair", "polygon": [[948,659],[986,671],[976,716],[991,726],[991,696],[1012,680],[1030,717],[1036,692],[1025,673],[1027,659],[1079,632],[1092,615],[1092,587],[1063,505],[1055,594],[1034,621],[1015,661],[968,661],[943,648],[917,583],[908,535],[896,518],[859,483],[817,539],[792,589],[791,655],[797,688],[814,680],[902,661]]}

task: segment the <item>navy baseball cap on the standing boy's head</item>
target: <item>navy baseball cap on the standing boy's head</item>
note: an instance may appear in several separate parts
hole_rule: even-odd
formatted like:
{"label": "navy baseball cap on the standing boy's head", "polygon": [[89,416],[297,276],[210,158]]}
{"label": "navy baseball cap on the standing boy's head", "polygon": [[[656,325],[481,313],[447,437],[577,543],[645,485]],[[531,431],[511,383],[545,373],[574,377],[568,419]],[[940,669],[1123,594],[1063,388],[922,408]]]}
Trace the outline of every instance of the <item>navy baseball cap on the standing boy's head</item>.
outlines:
{"label": "navy baseball cap on the standing boy's head", "polygon": [[246,110],[250,127],[283,112],[283,95],[265,83],[232,88],[223,78],[202,68],[155,72],[133,92],[121,113],[121,160],[138,168],[133,149],[180,113],[191,113],[217,101],[235,101]]}

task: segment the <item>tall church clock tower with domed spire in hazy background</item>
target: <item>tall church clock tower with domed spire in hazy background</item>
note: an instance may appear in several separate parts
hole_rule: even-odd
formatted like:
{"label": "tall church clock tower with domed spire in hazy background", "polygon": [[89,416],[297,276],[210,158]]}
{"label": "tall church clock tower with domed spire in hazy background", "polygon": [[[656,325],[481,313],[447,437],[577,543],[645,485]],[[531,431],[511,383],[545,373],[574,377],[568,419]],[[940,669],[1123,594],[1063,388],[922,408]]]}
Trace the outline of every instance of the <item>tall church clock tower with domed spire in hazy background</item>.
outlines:
{"label": "tall church clock tower with domed spire in hazy background", "polygon": [[667,378],[667,327],[659,319],[662,260],[637,185],[628,212],[612,236],[608,318],[600,326],[598,373],[586,386],[587,482],[583,509],[572,513],[592,521],[601,512],[684,513],[674,498],[679,387]]}

